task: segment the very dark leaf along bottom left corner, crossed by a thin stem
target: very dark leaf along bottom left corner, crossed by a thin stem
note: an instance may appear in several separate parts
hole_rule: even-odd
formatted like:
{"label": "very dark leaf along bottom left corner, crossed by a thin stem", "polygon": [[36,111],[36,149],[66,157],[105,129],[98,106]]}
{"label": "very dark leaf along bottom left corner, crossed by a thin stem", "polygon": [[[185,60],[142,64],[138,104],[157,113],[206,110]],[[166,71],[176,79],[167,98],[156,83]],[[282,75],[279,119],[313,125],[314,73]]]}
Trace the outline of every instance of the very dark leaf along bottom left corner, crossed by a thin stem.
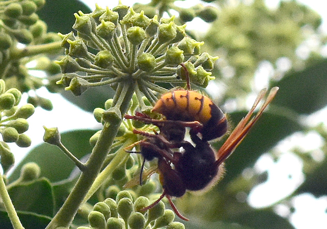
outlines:
{"label": "very dark leaf along bottom left corner, crossed by a thin stem", "polygon": [[[17,214],[21,224],[27,229],[45,228],[51,221],[51,218],[48,216],[38,215],[31,212],[17,211]],[[8,214],[5,211],[0,211],[0,222],[1,222],[2,229],[13,228],[10,219],[8,217]]]}

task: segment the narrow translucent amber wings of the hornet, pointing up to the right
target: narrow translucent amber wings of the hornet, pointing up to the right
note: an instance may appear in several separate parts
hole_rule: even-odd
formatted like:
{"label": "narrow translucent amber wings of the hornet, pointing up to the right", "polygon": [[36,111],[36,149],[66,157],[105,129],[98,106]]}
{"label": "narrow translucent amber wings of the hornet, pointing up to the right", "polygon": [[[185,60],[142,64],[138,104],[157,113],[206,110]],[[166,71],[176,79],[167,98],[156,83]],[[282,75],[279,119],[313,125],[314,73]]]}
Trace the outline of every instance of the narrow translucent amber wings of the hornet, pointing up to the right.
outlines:
{"label": "narrow translucent amber wings of the hornet, pointing up to the right", "polygon": [[260,91],[259,95],[256,97],[254,104],[251,108],[251,110],[247,113],[247,115],[239,122],[239,124],[236,126],[236,128],[233,130],[233,132],[229,135],[227,140],[224,142],[224,144],[220,147],[220,149],[217,151],[217,158],[216,165],[219,166],[222,164],[231,154],[232,152],[237,148],[237,146],[242,142],[242,140],[245,138],[245,136],[249,133],[250,129],[254,125],[256,121],[260,118],[263,111],[266,109],[268,104],[273,100],[275,97],[278,87],[273,87],[270,90],[269,95],[267,96],[267,99],[265,100],[264,104],[261,106],[258,113],[251,119],[251,116],[255,110],[255,108],[258,106],[260,101],[265,96],[267,90],[263,89]]}

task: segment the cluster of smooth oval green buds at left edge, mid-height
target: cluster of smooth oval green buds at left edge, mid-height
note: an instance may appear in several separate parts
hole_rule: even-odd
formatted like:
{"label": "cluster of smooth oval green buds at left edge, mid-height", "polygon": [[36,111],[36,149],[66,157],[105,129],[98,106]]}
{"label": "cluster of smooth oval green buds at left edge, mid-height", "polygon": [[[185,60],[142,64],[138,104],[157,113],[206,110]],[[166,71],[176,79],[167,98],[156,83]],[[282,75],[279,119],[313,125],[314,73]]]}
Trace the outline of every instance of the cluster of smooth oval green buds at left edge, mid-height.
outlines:
{"label": "cluster of smooth oval green buds at left edge, mid-height", "polygon": [[14,164],[14,156],[7,143],[15,142],[19,147],[31,145],[31,139],[24,134],[29,129],[26,120],[34,113],[34,106],[26,104],[18,107],[21,92],[16,88],[6,90],[4,80],[0,80],[0,163],[4,170]]}

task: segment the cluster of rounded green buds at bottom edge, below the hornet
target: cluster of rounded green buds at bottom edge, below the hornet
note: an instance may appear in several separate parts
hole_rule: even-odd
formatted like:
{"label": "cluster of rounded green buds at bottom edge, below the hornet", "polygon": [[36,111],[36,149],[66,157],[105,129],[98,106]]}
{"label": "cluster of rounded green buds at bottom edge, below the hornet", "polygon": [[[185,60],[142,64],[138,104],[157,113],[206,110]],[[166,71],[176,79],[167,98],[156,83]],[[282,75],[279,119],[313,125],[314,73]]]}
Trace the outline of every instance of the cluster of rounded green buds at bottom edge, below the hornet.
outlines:
{"label": "cluster of rounded green buds at bottom edge, below the hornet", "polygon": [[174,222],[174,212],[165,210],[165,205],[160,201],[155,207],[142,211],[150,201],[147,197],[133,198],[128,191],[119,192],[116,197],[106,198],[96,203],[88,214],[89,226],[80,226],[78,229],[106,229],[106,228],[170,228],[184,229],[180,222]]}

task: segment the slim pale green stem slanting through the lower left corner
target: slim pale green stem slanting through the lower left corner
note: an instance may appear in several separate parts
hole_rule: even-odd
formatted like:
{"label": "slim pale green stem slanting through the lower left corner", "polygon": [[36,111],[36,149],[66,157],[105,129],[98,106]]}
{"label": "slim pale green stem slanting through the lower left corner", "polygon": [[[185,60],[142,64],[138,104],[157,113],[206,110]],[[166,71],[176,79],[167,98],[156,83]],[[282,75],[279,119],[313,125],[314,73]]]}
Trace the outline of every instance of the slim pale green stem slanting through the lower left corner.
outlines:
{"label": "slim pale green stem slanting through the lower left corner", "polygon": [[24,226],[21,225],[15,207],[12,204],[12,201],[6,189],[4,177],[1,174],[0,174],[0,197],[2,198],[6,212],[8,213],[8,216],[10,218],[11,224],[13,225],[14,229],[24,229]]}

